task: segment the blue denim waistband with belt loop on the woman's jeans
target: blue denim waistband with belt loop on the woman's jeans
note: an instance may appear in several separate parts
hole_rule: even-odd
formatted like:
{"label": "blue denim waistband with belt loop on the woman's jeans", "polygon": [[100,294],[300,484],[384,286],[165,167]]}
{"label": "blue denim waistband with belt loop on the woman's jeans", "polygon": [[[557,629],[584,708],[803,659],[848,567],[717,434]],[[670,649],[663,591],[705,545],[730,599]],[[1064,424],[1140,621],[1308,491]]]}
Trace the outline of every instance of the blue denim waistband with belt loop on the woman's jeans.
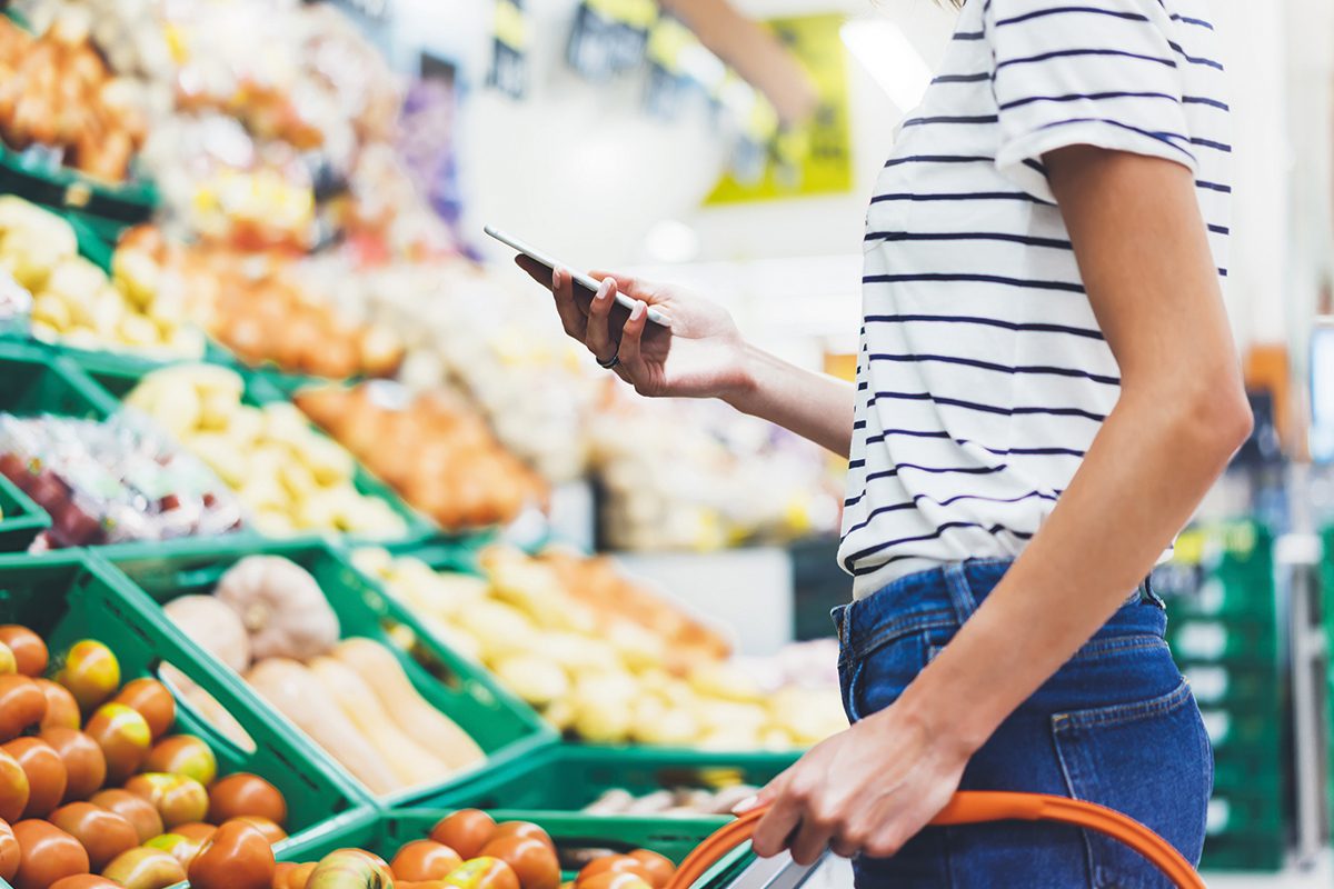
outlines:
{"label": "blue denim waistband with belt loop on the woman's jeans", "polygon": [[[866,598],[839,605],[831,614],[838,626],[840,657],[856,657],[895,636],[962,626],[1013,564],[1009,558],[974,558],[940,565],[899,577]],[[1093,638],[1163,636],[1166,629],[1163,602],[1145,578]]]}

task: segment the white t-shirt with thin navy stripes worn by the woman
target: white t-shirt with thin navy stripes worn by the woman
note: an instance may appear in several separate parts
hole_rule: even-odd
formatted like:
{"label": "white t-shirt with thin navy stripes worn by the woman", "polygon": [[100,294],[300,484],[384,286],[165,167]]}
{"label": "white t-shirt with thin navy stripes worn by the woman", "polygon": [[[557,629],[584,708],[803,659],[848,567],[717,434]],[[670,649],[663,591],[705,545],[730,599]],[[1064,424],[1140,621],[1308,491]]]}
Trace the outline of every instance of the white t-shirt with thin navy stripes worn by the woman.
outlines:
{"label": "white t-shirt with thin navy stripes worn by the woman", "polygon": [[1227,275],[1223,80],[1206,0],[968,0],[867,213],[839,548],[856,596],[1017,556],[1117,403],[1045,153],[1189,167]]}

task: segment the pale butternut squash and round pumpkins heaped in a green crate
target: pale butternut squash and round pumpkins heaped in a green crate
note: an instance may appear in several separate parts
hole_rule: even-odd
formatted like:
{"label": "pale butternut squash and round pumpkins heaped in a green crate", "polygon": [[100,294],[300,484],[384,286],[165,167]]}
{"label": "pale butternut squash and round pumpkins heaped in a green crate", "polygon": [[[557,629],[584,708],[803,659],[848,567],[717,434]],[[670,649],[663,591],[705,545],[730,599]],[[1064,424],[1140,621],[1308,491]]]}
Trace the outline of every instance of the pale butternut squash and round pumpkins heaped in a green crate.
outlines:
{"label": "pale butternut squash and round pumpkins heaped in a green crate", "polygon": [[394,652],[340,638],[315,577],[291,560],[247,556],[212,594],[180,596],[163,610],[372,793],[436,784],[486,758]]}

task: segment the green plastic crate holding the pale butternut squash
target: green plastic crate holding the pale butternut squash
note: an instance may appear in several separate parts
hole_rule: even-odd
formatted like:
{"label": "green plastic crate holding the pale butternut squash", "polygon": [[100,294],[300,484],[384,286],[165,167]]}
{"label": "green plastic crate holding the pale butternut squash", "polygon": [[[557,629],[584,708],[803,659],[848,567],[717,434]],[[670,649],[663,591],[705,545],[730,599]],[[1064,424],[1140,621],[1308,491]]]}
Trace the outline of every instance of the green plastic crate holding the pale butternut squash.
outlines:
{"label": "green plastic crate holding the pale butternut squash", "polygon": [[[129,546],[103,546],[93,552],[120,568],[129,581],[159,604],[187,593],[212,592],[223,573],[251,552],[284,556],[308,569],[338,613],[344,637],[366,636],[386,644],[399,657],[418,692],[458,722],[487,753],[487,760],[475,769],[460,772],[438,785],[380,797],[382,805],[436,794],[483,769],[512,769],[555,740],[555,732],[527,705],[506,692],[480,666],[434,641],[410,612],[352,568],[342,552],[323,541],[271,541],[256,550],[224,540],[183,540],[173,541],[171,548],[161,548],[156,553]],[[153,620],[165,622],[160,610],[152,613]],[[430,669],[391,642],[390,629],[395,625],[402,625],[416,636]],[[265,712],[275,713],[257,696],[256,701]],[[281,724],[288,725],[285,718]],[[285,730],[299,732],[295,726]],[[346,780],[352,780],[332,757],[323,752],[320,756],[328,768],[338,769]]]}

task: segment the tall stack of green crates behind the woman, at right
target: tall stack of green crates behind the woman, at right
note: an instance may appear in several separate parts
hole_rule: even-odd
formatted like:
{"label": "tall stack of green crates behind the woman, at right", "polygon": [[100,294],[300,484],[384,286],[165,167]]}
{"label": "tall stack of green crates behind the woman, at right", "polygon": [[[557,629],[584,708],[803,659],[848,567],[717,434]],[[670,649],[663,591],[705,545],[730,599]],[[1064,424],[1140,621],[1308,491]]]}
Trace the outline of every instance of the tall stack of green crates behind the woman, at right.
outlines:
{"label": "tall stack of green crates behind the woman, at right", "polygon": [[1251,521],[1191,528],[1154,573],[1167,640],[1214,746],[1202,869],[1277,870],[1286,813],[1281,622],[1273,537]]}

